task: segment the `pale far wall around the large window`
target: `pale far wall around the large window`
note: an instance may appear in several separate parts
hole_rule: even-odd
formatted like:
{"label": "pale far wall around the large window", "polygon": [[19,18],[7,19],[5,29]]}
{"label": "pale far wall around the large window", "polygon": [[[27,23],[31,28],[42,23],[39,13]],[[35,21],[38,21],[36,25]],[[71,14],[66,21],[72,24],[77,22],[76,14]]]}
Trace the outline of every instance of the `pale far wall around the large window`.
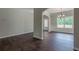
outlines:
{"label": "pale far wall around the large window", "polygon": [[[57,14],[58,13],[51,13],[51,31],[56,31],[56,32],[66,32],[66,33],[73,33],[74,29],[70,28],[57,28]],[[73,16],[73,11],[66,11],[64,12],[66,16]]]}

